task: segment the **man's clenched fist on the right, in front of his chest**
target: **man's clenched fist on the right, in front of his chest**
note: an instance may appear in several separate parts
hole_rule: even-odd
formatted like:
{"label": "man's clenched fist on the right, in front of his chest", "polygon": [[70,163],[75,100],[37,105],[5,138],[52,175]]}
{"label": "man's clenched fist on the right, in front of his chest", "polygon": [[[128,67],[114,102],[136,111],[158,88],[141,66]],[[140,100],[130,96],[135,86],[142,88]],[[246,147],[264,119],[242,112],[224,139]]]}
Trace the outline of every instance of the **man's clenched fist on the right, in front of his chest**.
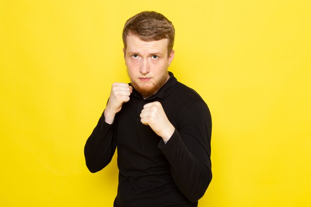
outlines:
{"label": "man's clenched fist on the right, in front of his chest", "polygon": [[175,131],[174,126],[167,119],[162,105],[157,101],[144,105],[140,117],[141,122],[144,125],[149,125],[164,141],[168,141]]}

